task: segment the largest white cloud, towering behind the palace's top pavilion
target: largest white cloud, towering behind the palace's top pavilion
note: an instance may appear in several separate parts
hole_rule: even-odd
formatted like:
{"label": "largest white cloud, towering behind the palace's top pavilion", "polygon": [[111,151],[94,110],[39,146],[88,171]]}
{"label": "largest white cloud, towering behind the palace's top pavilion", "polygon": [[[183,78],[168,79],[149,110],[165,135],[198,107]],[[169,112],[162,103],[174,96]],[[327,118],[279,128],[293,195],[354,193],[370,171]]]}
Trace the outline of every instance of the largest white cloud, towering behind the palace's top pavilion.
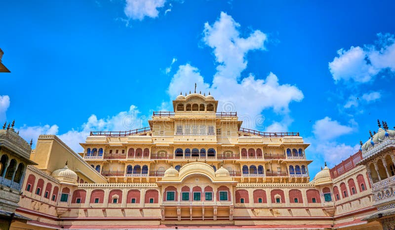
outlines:
{"label": "largest white cloud, towering behind the palace's top pavilion", "polygon": [[[240,38],[240,25],[224,12],[213,24],[206,23],[203,41],[213,48],[216,57],[217,72],[211,85],[204,81],[199,70],[190,65],[180,65],[171,79],[168,94],[173,99],[180,91],[189,92],[197,83],[197,92],[211,92],[219,100],[218,111],[238,111],[245,122],[244,127],[255,128],[256,120],[262,120],[261,112],[273,108],[286,114],[292,101],[301,101],[303,93],[296,86],[280,84],[278,77],[270,73],[266,79],[256,79],[253,74],[239,81],[240,74],[247,66],[246,54],[249,51],[264,49],[267,36],[259,30],[253,31],[247,38]],[[275,127],[275,126],[272,126]],[[281,129],[284,129],[283,127]]]}

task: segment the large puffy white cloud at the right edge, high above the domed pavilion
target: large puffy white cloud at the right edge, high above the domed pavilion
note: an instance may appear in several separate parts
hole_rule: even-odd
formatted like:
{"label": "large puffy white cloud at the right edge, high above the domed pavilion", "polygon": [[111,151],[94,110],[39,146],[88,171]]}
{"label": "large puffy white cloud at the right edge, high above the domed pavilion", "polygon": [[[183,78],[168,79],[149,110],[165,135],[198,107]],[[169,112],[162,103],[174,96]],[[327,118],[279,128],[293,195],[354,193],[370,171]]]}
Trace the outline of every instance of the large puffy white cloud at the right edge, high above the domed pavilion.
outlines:
{"label": "large puffy white cloud at the right edge, high above the domed pavilion", "polygon": [[351,46],[339,49],[338,57],[329,62],[329,71],[335,82],[369,82],[381,71],[395,71],[395,39],[391,34],[378,34],[376,45]]}

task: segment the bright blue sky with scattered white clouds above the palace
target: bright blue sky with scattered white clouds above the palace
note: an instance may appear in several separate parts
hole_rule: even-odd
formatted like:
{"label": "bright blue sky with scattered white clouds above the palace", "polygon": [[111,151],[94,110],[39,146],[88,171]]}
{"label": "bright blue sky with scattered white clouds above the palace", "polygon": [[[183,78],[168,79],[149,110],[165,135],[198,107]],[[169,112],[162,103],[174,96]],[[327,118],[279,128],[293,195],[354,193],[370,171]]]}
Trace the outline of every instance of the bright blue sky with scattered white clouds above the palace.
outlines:
{"label": "bright blue sky with scattered white clouds above the palace", "polygon": [[180,91],[245,127],[297,131],[311,177],[395,125],[393,1],[1,1],[0,121],[74,150],[147,125]]}

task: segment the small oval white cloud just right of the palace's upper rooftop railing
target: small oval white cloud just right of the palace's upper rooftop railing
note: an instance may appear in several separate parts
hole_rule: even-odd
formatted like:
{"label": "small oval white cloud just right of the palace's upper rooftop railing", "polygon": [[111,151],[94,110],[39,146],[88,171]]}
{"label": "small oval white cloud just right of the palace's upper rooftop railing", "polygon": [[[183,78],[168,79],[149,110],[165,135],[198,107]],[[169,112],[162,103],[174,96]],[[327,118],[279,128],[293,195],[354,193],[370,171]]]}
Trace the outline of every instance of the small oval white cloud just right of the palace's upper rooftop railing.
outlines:
{"label": "small oval white cloud just right of the palace's upper rooftop railing", "polygon": [[351,133],[355,127],[355,121],[352,121],[354,127],[342,125],[337,120],[332,120],[325,116],[323,119],[317,120],[313,125],[313,133],[319,140],[333,140],[339,136]]}

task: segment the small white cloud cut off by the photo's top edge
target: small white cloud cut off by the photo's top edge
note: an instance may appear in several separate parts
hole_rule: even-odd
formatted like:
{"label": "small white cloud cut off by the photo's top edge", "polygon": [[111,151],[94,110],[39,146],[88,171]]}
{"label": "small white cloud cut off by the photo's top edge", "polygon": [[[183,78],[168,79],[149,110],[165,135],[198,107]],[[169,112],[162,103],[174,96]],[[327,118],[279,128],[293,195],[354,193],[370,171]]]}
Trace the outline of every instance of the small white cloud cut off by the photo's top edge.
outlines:
{"label": "small white cloud cut off by the photo's top edge", "polygon": [[143,20],[144,17],[158,17],[158,8],[164,6],[166,0],[126,0],[124,12],[133,20]]}

